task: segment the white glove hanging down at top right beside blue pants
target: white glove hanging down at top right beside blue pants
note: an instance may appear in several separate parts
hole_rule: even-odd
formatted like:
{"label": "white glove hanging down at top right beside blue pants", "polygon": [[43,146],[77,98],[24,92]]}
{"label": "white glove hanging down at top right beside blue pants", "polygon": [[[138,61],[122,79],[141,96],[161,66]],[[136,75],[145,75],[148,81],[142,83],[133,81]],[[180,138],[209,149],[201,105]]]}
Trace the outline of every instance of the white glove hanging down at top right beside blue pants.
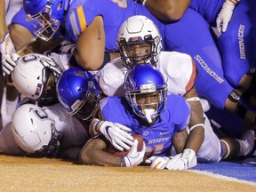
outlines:
{"label": "white glove hanging down at top right beside blue pants", "polygon": [[233,10],[239,1],[240,0],[234,0],[234,1],[226,0],[226,2],[224,2],[224,4],[222,5],[222,8],[218,14],[218,18],[216,20],[217,29],[220,34],[224,33],[227,30],[228,23],[231,20],[231,17],[233,14]]}

